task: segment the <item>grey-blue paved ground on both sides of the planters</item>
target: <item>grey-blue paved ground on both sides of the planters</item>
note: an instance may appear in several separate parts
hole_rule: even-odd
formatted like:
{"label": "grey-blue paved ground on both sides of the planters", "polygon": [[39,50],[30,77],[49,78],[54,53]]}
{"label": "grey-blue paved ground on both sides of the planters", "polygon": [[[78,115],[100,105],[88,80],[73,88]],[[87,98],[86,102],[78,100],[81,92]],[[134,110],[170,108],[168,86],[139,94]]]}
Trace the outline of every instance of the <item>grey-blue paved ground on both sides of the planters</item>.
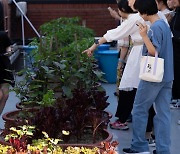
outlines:
{"label": "grey-blue paved ground on both sides of the planters", "polygon": [[[103,84],[104,88],[107,91],[107,95],[109,95],[108,101],[110,102],[107,111],[111,113],[115,113],[117,106],[117,99],[113,95],[115,91],[115,84]],[[18,98],[15,96],[14,92],[10,92],[10,97],[7,101],[5,109],[3,113],[12,111],[16,109],[15,104],[18,102]],[[171,154],[180,154],[180,125],[177,125],[177,120],[180,118],[180,110],[172,110],[172,123],[171,123]],[[113,121],[115,118],[113,117],[111,120]],[[0,128],[4,127],[4,121],[0,118]],[[112,130],[109,128],[109,131],[113,134],[114,140],[119,142],[119,146],[117,148],[118,153],[122,154],[122,148],[129,147],[131,143],[132,136],[132,127],[131,123],[129,124],[130,129],[128,131],[120,131],[120,130]],[[153,148],[150,149],[151,151]]]}

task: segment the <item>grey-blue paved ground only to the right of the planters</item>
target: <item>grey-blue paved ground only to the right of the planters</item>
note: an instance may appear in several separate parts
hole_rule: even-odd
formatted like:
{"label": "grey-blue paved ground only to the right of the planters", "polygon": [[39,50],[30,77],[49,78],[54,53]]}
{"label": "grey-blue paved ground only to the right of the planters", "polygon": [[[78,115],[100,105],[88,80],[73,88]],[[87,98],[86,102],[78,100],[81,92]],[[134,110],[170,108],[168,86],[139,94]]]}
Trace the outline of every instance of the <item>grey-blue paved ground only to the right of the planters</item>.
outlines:
{"label": "grey-blue paved ground only to the right of the planters", "polygon": [[[117,98],[114,96],[114,91],[116,88],[115,84],[103,84],[106,89],[107,95],[109,95],[110,105],[107,108],[107,111],[110,111],[112,114],[115,113],[117,107]],[[180,109],[172,109],[172,121],[171,121],[171,154],[180,154],[180,125],[177,124],[178,119],[180,118]],[[111,121],[114,121],[116,118],[112,118]],[[110,132],[113,133],[114,140],[119,142],[118,153],[123,154],[122,149],[130,146],[132,138],[132,126],[129,123],[130,129],[128,131],[113,130],[110,129]],[[152,150],[155,148],[150,148]]]}

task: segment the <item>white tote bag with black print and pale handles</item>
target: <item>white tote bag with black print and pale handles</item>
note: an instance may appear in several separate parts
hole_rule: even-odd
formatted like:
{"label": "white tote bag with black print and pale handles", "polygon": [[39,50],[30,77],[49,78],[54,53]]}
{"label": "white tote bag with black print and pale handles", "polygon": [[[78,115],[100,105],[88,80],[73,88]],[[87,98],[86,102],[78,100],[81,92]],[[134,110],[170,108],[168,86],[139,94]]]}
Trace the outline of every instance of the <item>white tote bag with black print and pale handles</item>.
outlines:
{"label": "white tote bag with black print and pale handles", "polygon": [[155,57],[142,56],[140,62],[139,78],[149,82],[161,82],[164,75],[164,59],[158,58],[156,51]]}

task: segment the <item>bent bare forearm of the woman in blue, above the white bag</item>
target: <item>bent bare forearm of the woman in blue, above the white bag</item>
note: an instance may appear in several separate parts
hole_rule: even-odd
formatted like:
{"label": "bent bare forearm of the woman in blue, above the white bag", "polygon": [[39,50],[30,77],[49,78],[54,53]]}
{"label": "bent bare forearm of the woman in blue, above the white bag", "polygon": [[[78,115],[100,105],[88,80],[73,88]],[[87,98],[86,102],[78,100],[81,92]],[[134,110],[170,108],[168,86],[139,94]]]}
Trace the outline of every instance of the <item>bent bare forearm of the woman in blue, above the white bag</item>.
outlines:
{"label": "bent bare forearm of the woman in blue, above the white bag", "polygon": [[154,47],[154,45],[152,44],[151,40],[147,35],[147,25],[138,23],[138,26],[139,26],[139,33],[147,47],[148,53],[152,56],[155,56],[156,48]]}

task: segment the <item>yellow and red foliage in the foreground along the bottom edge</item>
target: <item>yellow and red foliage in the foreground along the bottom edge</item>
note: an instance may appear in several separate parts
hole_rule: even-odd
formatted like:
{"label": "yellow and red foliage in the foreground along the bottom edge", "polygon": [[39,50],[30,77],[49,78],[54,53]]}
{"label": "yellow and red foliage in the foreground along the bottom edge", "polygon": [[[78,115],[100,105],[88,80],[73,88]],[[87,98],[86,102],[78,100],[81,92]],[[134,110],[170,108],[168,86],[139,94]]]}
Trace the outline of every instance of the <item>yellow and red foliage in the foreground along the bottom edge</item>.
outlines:
{"label": "yellow and red foliage in the foreground along the bottom edge", "polygon": [[[117,154],[115,151],[118,143],[102,142],[101,147],[61,147],[58,142],[61,139],[50,138],[46,132],[43,133],[42,139],[34,139],[28,144],[28,140],[33,137],[34,126],[23,125],[18,128],[11,127],[9,134],[6,135],[5,141],[0,143],[0,153],[3,154]],[[65,135],[69,132],[63,131]]]}

